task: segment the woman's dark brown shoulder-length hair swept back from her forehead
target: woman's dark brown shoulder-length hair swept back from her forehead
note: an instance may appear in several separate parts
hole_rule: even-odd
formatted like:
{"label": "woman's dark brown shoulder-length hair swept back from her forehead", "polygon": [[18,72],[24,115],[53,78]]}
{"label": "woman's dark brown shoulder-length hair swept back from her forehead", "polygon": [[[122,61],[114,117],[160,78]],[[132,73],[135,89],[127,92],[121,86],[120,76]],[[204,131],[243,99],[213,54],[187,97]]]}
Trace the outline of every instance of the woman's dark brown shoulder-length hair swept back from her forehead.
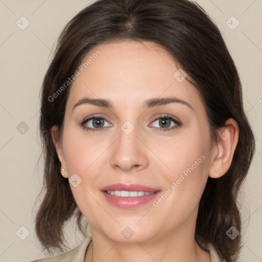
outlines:
{"label": "woman's dark brown shoulder-length hair swept back from her forehead", "polygon": [[41,90],[39,128],[45,156],[45,195],[36,214],[39,241],[49,253],[51,248],[62,250],[63,226],[74,214],[85,235],[83,215],[68,180],[60,174],[51,136],[54,125],[59,136],[62,134],[71,84],[55,99],[54,94],[75,73],[89,50],[98,44],[125,40],[152,41],[174,58],[201,94],[214,143],[217,130],[228,118],[238,123],[239,138],[231,166],[221,178],[208,178],[195,228],[196,241],[211,243],[222,259],[236,261],[241,234],[231,240],[226,232],[231,226],[240,232],[242,229],[237,193],[254,154],[254,135],[243,108],[241,81],[220,30],[205,10],[187,0],[99,0],[75,15],[61,32]]}

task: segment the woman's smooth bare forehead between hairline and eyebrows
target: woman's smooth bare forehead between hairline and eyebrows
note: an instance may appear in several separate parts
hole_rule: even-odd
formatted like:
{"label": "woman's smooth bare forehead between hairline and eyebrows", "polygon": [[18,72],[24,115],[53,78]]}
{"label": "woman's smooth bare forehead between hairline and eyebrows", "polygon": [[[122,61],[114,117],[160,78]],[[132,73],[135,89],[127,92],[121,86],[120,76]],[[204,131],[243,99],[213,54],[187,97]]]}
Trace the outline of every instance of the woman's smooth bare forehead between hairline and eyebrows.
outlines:
{"label": "woman's smooth bare forehead between hairline and eyebrows", "polygon": [[[97,55],[99,54],[99,55]],[[176,96],[199,106],[200,96],[179,74],[176,61],[149,41],[122,41],[97,45],[82,60],[68,106],[84,97],[110,99],[119,106],[143,104],[152,97]]]}

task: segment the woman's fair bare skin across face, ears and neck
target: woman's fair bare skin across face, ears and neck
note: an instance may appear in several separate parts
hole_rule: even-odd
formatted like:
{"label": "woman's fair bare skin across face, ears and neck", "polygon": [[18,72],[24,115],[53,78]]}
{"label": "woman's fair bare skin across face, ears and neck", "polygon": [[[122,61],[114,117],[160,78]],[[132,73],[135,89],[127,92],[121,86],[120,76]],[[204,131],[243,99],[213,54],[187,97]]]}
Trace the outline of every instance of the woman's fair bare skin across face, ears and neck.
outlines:
{"label": "woman's fair bare skin across face, ears and neck", "polygon": [[[91,225],[93,241],[84,261],[211,261],[209,252],[194,241],[195,222],[208,176],[219,178],[230,167],[237,123],[228,119],[219,130],[221,139],[212,145],[199,92],[187,78],[178,82],[173,77],[179,67],[154,43],[106,43],[86,58],[96,50],[101,55],[73,82],[61,140],[57,127],[52,128],[62,175],[70,179],[77,173],[82,179],[77,187],[70,186]],[[84,97],[110,99],[113,107],[81,104],[73,109]],[[177,97],[192,108],[182,103],[143,107],[147,99],[164,97]],[[104,130],[86,130],[79,124],[93,114],[107,119]],[[171,122],[159,130],[166,114],[182,125]],[[135,127],[129,135],[121,129],[126,121]],[[95,128],[92,121],[85,126]],[[157,207],[149,202],[121,209],[100,191],[114,183],[136,183],[164,193],[203,155],[205,160]],[[126,226],[134,231],[129,239],[121,234]]]}

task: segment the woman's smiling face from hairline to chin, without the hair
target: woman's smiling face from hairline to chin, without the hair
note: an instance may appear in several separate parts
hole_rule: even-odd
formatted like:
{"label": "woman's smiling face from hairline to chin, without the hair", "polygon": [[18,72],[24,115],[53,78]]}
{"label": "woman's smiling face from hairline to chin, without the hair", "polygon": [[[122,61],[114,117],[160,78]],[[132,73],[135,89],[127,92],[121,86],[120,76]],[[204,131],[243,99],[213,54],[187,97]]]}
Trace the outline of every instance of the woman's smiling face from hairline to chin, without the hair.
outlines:
{"label": "woman's smiling face from hairline to chin, without the hair", "polygon": [[83,62],[90,56],[57,152],[92,234],[117,242],[189,234],[211,159],[200,94],[152,42],[99,45]]}

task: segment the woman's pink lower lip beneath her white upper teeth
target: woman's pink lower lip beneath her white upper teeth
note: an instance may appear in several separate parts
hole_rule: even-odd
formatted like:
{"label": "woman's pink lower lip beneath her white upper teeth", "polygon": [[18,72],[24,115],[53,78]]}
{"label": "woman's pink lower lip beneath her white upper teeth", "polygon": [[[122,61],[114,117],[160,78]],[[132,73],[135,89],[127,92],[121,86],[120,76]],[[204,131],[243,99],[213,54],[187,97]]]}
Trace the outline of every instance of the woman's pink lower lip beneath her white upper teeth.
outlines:
{"label": "woman's pink lower lip beneath her white upper teeth", "polygon": [[142,206],[152,200],[154,200],[160,191],[157,191],[154,194],[142,195],[141,197],[117,197],[116,195],[107,194],[105,191],[102,191],[105,199],[112,205],[119,208],[136,208]]}

